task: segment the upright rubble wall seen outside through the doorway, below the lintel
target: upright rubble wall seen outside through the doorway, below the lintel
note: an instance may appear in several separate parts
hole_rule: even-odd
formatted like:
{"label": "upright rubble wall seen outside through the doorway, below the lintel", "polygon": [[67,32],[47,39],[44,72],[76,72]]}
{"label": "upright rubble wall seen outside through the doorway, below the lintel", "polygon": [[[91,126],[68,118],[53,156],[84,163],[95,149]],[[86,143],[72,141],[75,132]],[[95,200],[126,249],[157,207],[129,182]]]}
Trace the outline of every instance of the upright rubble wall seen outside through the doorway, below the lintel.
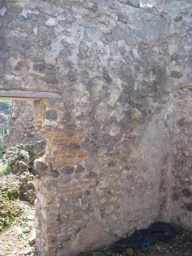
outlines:
{"label": "upright rubble wall seen outside through the doorway, below the lintel", "polygon": [[8,134],[3,138],[6,149],[17,144],[33,144],[42,140],[34,128],[33,114],[33,101],[13,101],[10,106]]}

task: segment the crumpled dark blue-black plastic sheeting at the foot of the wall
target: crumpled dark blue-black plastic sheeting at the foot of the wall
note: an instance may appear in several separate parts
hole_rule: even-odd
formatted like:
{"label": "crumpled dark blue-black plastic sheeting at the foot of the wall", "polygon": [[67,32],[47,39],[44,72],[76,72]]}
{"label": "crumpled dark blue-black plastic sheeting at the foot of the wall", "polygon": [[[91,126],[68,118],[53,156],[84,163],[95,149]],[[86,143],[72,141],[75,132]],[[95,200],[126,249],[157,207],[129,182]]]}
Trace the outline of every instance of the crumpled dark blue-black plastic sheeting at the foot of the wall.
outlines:
{"label": "crumpled dark blue-black plastic sheeting at the foot of the wall", "polygon": [[164,222],[154,222],[146,229],[136,229],[128,238],[115,242],[116,248],[145,249],[156,240],[170,243],[175,237],[175,231]]}

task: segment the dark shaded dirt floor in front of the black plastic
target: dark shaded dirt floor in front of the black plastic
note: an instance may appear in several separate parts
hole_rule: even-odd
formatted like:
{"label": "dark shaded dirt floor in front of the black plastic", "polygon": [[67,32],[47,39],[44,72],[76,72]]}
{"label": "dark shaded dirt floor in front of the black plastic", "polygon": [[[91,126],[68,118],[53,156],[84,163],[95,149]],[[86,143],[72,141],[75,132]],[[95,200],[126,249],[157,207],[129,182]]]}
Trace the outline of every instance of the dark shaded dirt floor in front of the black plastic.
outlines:
{"label": "dark shaded dirt floor in front of the black plastic", "polygon": [[[150,246],[147,251],[134,250],[133,256],[192,256],[192,231],[174,226],[176,237],[171,244],[156,242]],[[116,252],[113,248],[91,253],[81,254],[79,256],[125,256],[125,252]],[[130,256],[132,256],[130,254]]]}

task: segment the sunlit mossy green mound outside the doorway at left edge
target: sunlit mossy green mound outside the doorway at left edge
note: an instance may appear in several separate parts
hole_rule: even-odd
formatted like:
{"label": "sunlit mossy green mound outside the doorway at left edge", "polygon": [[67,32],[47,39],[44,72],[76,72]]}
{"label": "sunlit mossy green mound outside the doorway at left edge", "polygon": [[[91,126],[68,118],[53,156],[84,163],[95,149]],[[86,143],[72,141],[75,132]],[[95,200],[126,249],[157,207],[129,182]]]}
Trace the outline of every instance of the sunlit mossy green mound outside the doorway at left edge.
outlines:
{"label": "sunlit mossy green mound outside the doorway at left edge", "polygon": [[20,194],[20,186],[15,175],[3,175],[0,183],[0,231],[9,227],[19,216],[20,208],[16,200]]}

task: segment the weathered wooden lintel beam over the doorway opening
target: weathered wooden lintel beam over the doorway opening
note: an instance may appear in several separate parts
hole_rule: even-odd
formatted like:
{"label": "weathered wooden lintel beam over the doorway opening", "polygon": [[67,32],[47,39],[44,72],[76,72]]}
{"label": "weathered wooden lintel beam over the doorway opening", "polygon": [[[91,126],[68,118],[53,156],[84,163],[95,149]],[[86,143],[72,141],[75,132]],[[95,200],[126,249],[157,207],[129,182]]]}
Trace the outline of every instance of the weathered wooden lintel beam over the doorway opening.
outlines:
{"label": "weathered wooden lintel beam over the doorway opening", "polygon": [[[43,92],[43,91],[17,91],[17,90],[0,90],[0,98],[17,98],[18,100],[38,100],[42,98],[61,99],[61,94],[58,92]],[[14,99],[13,99],[14,100]]]}

